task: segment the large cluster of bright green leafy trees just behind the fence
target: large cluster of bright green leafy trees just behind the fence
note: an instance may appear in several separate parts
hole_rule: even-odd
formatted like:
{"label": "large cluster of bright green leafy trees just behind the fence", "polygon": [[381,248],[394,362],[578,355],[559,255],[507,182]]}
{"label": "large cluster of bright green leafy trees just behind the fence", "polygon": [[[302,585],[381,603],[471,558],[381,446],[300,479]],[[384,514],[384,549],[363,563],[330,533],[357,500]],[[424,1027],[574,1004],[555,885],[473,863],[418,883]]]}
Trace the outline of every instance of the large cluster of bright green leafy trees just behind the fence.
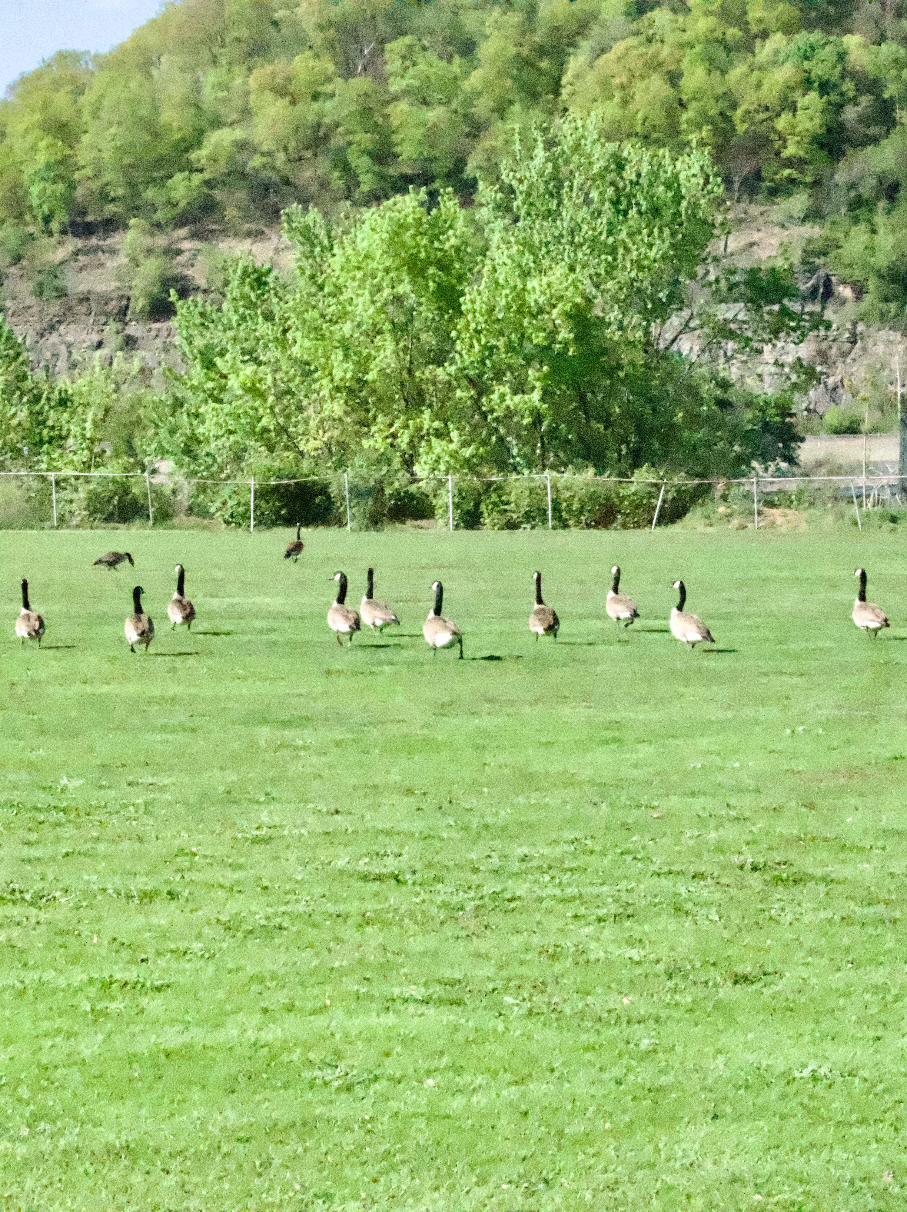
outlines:
{"label": "large cluster of bright green leafy trees just behind the fence", "polygon": [[240,259],[222,304],[178,305],[187,371],[161,453],[213,476],[728,475],[789,458],[789,401],[734,391],[666,337],[691,296],[700,333],[748,339],[766,310],[776,332],[808,324],[789,280],[709,276],[719,191],[703,153],[605,143],[593,116],[518,139],[473,208],[424,189],[335,223],[291,208],[292,281]]}

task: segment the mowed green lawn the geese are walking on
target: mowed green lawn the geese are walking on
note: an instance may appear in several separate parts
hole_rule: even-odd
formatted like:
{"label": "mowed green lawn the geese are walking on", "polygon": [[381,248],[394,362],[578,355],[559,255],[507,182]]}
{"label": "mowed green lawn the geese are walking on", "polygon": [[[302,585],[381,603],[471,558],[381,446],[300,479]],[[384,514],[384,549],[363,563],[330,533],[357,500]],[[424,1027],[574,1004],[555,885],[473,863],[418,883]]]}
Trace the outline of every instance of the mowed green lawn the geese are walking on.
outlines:
{"label": "mowed green lawn the geese are walking on", "polygon": [[0,1207],[905,1207],[903,541],[289,537],[0,534]]}

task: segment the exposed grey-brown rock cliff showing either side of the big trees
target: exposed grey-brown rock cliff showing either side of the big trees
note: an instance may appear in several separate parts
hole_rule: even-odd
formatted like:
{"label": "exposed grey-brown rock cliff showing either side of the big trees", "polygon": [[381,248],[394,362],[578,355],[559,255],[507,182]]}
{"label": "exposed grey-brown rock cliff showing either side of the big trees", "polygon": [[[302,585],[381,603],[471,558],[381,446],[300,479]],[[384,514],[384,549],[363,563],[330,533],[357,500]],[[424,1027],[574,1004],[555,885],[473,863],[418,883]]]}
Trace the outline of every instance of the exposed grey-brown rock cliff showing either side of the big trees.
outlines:
{"label": "exposed grey-brown rock cliff showing either side of the big trees", "polygon": [[[785,215],[778,207],[738,206],[732,215],[732,234],[721,252],[740,264],[772,258],[799,261],[805,241],[816,228]],[[182,234],[172,242],[173,264],[186,292],[211,291],[216,286],[212,267],[222,252],[244,253],[256,261],[270,261],[280,271],[291,265],[291,250],[279,233],[251,238],[223,238],[217,242],[194,240]],[[129,265],[124,236],[68,239],[44,262],[27,258],[4,273],[0,286],[7,322],[23,338],[36,367],[53,375],[78,373],[93,358],[110,361],[116,353],[136,359],[152,381],[160,381],[162,366],[178,366],[175,332],[169,320],[142,320],[133,314],[129,287]],[[35,297],[41,282],[53,270],[62,297]],[[753,385],[783,387],[789,367],[800,358],[815,366],[821,381],[802,401],[808,428],[832,406],[865,412],[867,405],[875,428],[891,428],[896,408],[897,366],[907,379],[907,339],[900,332],[871,328],[856,319],[858,301],[852,287],[825,279],[811,284],[822,299],[827,332],[803,345],[778,345],[736,371]]]}

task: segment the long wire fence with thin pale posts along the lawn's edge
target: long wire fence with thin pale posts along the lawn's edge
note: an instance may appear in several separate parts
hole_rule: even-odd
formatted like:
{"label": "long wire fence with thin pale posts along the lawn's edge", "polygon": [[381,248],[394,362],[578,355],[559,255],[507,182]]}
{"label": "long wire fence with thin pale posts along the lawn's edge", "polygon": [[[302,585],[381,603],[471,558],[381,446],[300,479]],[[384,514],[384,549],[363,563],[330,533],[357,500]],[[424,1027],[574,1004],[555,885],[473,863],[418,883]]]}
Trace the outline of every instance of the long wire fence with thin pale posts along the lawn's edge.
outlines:
{"label": "long wire fence with thin pale posts along the lawn's edge", "polygon": [[[224,487],[247,485],[249,487],[249,531],[255,533],[255,492],[256,487],[280,487],[292,484],[313,484],[323,482],[330,479],[331,475],[337,475],[337,473],[327,471],[324,475],[307,475],[296,476],[293,479],[285,480],[256,480],[251,476],[249,480],[215,480],[204,476],[181,476],[177,475],[176,479],[181,482],[192,486],[195,484],[213,484],[222,485]],[[356,478],[358,473],[353,473]],[[124,480],[144,480],[146,482],[146,494],[148,498],[148,521],[154,525],[154,508],[152,503],[152,479],[150,470],[146,471],[69,471],[69,470],[55,470],[55,471],[0,471],[1,478],[15,478],[15,476],[38,476],[50,480],[51,485],[51,497],[53,503],[53,525],[58,524],[57,514],[57,480],[61,478],[73,478],[73,479],[124,479]],[[346,503],[346,515],[347,515],[347,530],[352,531],[352,511],[349,503],[349,471],[343,473],[343,491],[344,491],[344,503]],[[452,531],[455,528],[454,518],[454,486],[455,481],[463,480],[472,484],[504,484],[514,480],[544,480],[546,481],[546,493],[547,493],[547,513],[548,513],[548,530],[553,528],[553,509],[552,509],[552,479],[559,481],[578,481],[582,484],[637,484],[637,485],[658,485],[658,501],[655,507],[655,514],[652,516],[652,531],[658,524],[658,515],[661,513],[662,502],[664,499],[664,491],[668,487],[673,488],[685,488],[695,487],[700,485],[714,485],[714,486],[731,486],[731,485],[752,485],[753,491],[753,524],[754,527],[759,528],[759,492],[785,492],[793,491],[802,484],[846,484],[850,486],[850,493],[854,501],[854,510],[856,513],[857,526],[862,531],[862,520],[860,516],[860,507],[857,504],[856,487],[854,484],[852,475],[785,475],[785,474],[765,474],[759,476],[754,474],[752,476],[718,476],[715,479],[674,479],[666,480],[663,478],[656,476],[624,476],[624,475],[574,475],[569,471],[537,471],[529,473],[526,475],[463,475],[457,476],[452,473],[447,475],[441,475],[440,473],[434,475],[406,475],[390,474],[389,479],[400,480],[405,479],[411,485],[424,484],[429,481],[445,481],[447,484],[447,525]],[[161,478],[166,481],[166,478]],[[366,475],[363,473],[359,479],[367,479],[370,481],[384,479],[381,475]],[[877,498],[878,490],[882,487],[896,487],[896,494],[902,491],[902,484],[900,478],[892,473],[877,473],[866,474],[861,478],[862,490],[863,490],[863,509],[871,508],[872,499]],[[158,481],[160,482],[160,481]],[[869,504],[866,503],[866,490],[872,487],[872,497]]]}

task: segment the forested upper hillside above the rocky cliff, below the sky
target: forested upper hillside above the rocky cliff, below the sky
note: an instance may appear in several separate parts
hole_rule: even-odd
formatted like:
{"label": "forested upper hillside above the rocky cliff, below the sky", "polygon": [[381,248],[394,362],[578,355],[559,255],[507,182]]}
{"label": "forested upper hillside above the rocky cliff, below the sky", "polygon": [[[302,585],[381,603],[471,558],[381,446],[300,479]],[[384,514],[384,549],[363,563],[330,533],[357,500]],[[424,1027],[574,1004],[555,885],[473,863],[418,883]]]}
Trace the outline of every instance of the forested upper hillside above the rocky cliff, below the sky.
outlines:
{"label": "forested upper hillside above the rocky cliff, below the sky", "polygon": [[707,149],[735,198],[795,195],[809,255],[900,321],[905,45],[899,0],[182,0],[11,87],[4,244],[468,196],[514,130],[597,109],[606,138]]}

